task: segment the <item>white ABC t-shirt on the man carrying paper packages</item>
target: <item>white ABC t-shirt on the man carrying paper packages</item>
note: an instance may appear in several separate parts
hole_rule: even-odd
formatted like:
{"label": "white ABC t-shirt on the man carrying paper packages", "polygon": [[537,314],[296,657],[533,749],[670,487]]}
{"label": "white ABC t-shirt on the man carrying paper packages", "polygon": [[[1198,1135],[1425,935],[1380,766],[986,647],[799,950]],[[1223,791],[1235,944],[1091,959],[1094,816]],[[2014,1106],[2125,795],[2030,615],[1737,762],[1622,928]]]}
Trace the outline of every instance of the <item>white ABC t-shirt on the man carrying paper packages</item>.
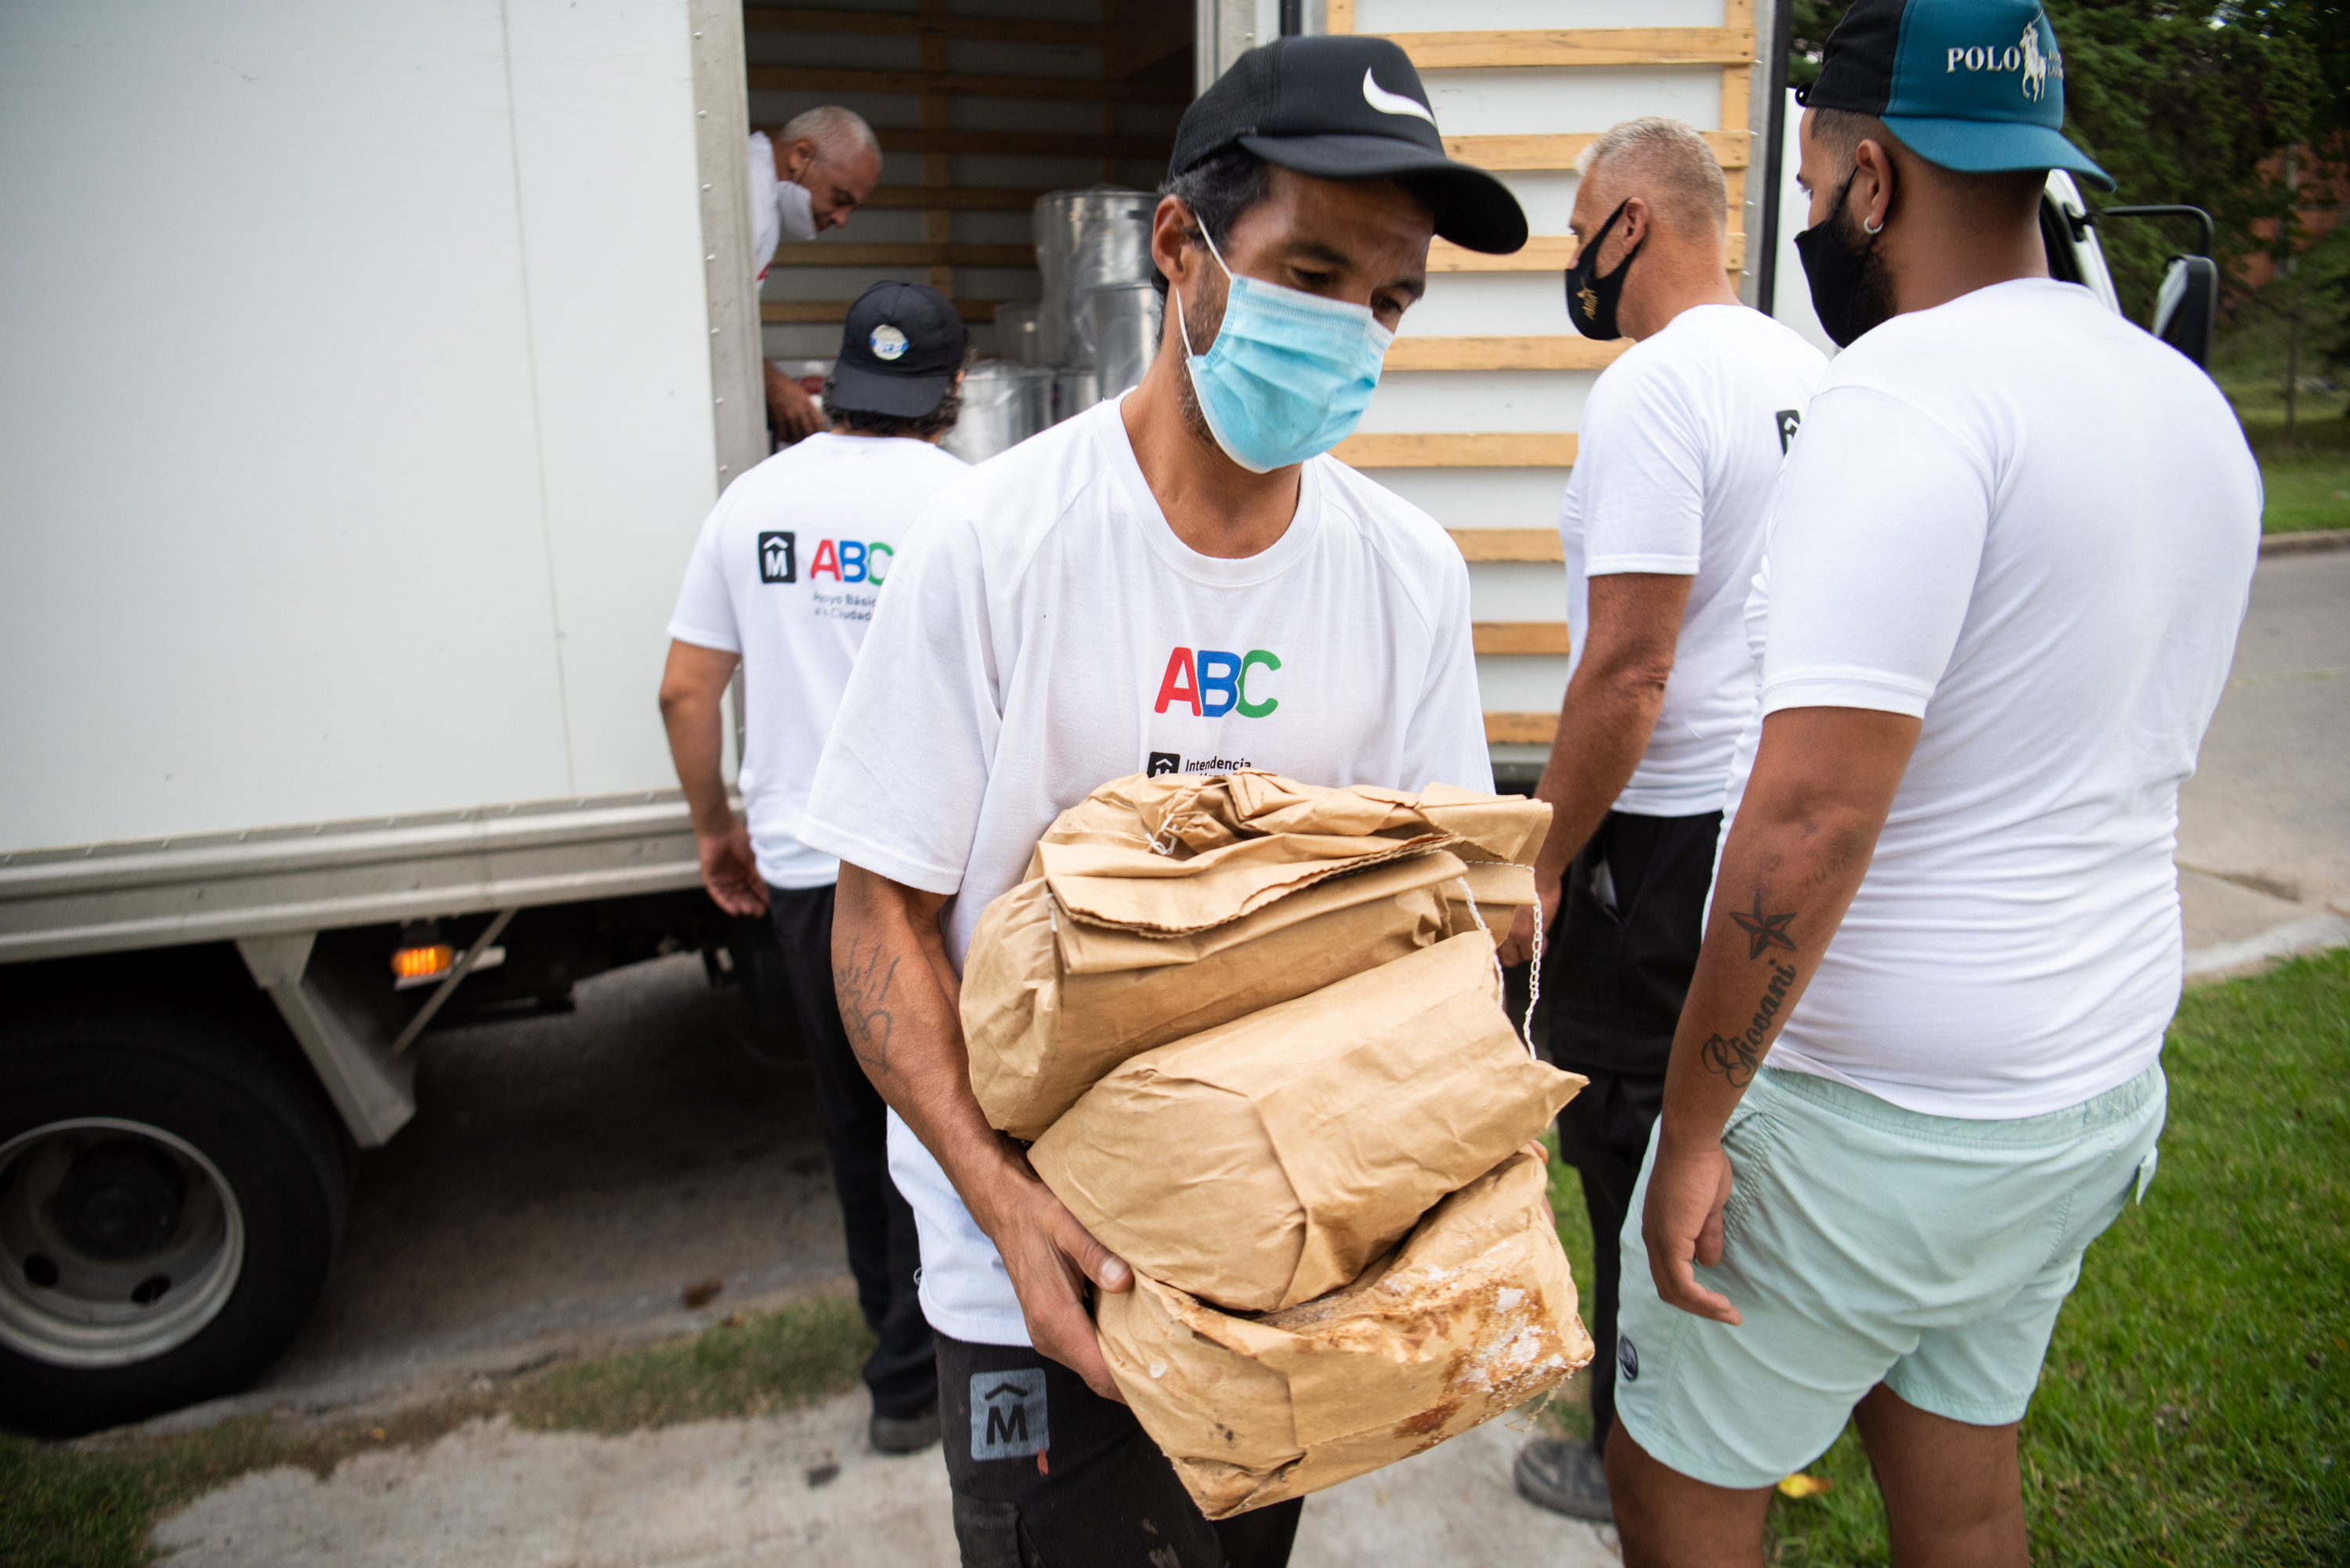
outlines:
{"label": "white ABC t-shirt on the man carrying paper packages", "polygon": [[[1318,785],[1492,788],[1469,569],[1426,512],[1335,458],[1262,555],[1194,552],[1152,498],[1121,402],[938,496],[884,597],[801,835],[954,893],[956,969],[1053,818],[1109,778],[1260,766]],[[891,1117],[940,1333],[1025,1345],[1003,1260]]]}

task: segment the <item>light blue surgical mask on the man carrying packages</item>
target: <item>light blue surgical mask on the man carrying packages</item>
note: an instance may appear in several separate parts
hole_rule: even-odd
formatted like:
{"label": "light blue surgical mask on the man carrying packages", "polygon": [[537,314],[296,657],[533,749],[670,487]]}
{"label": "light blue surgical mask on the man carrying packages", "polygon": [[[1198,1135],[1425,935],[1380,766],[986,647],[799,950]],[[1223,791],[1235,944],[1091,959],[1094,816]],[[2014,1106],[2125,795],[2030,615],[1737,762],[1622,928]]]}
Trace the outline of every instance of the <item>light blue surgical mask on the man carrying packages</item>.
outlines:
{"label": "light blue surgical mask on the man carrying packages", "polygon": [[[1206,228],[1201,237],[1208,237]],[[1170,294],[1184,369],[1224,456],[1248,473],[1271,473],[1354,435],[1396,334],[1365,306],[1236,275],[1215,240],[1208,240],[1208,254],[1231,280],[1224,324],[1215,329],[1208,353],[1191,353],[1182,292]]]}

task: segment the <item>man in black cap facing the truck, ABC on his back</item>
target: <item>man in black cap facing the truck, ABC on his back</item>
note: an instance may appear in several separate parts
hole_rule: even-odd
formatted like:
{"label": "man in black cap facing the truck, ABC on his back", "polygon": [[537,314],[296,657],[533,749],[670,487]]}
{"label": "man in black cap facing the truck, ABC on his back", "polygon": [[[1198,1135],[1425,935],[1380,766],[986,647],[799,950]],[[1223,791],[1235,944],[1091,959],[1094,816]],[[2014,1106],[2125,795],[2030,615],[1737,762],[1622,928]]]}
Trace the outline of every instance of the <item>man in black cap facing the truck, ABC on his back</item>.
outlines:
{"label": "man in black cap facing the truck, ABC on his back", "polygon": [[[832,994],[839,863],[806,842],[799,818],[907,522],[964,473],[938,449],[954,428],[964,343],[964,322],[938,289],[881,282],[851,306],[825,386],[832,430],[778,451],[719,496],[686,562],[660,677],[703,886],[728,914],[776,922],[848,1269],[879,1338],[865,1385],[870,1436],[884,1453],[935,1441],[938,1373],[914,1300],[914,1213],[891,1185],[881,1095],[858,1070]],[[721,696],[738,663],[747,823],[726,804],[719,771]]]}

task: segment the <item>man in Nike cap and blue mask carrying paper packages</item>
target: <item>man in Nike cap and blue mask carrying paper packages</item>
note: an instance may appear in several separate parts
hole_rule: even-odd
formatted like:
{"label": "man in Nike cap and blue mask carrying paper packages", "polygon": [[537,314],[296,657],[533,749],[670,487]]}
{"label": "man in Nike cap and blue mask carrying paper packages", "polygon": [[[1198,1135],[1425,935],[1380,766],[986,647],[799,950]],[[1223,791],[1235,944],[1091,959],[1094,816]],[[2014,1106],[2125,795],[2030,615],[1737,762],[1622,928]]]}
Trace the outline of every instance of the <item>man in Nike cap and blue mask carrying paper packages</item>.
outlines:
{"label": "man in Nike cap and blue mask carrying paper packages", "polygon": [[1429,240],[1525,242],[1377,38],[1241,56],[1184,113],[1133,393],[982,463],[921,517],[801,832],[841,856],[834,966],[921,1220],[966,1563],[1283,1563],[1297,1505],[1208,1523],[1102,1363],[1083,1288],[1133,1286],[971,1093],[971,931],[1109,778],[1262,766],[1492,788],[1469,574],[1323,456],[1379,381]]}

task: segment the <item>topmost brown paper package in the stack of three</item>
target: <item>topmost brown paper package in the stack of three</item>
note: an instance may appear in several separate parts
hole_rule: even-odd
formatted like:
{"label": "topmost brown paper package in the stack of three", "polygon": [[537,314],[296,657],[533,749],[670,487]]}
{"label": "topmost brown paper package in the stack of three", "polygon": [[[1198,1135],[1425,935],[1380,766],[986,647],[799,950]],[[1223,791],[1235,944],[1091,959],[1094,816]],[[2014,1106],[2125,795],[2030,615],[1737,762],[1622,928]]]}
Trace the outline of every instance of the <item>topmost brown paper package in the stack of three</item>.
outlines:
{"label": "topmost brown paper package in the stack of three", "polygon": [[[1304,997],[1532,903],[1539,802],[1318,790],[1274,773],[1119,778],[1062,811],[980,917],[971,1088],[1041,1138],[1152,1046]],[[1156,844],[1156,849],[1154,849]]]}

